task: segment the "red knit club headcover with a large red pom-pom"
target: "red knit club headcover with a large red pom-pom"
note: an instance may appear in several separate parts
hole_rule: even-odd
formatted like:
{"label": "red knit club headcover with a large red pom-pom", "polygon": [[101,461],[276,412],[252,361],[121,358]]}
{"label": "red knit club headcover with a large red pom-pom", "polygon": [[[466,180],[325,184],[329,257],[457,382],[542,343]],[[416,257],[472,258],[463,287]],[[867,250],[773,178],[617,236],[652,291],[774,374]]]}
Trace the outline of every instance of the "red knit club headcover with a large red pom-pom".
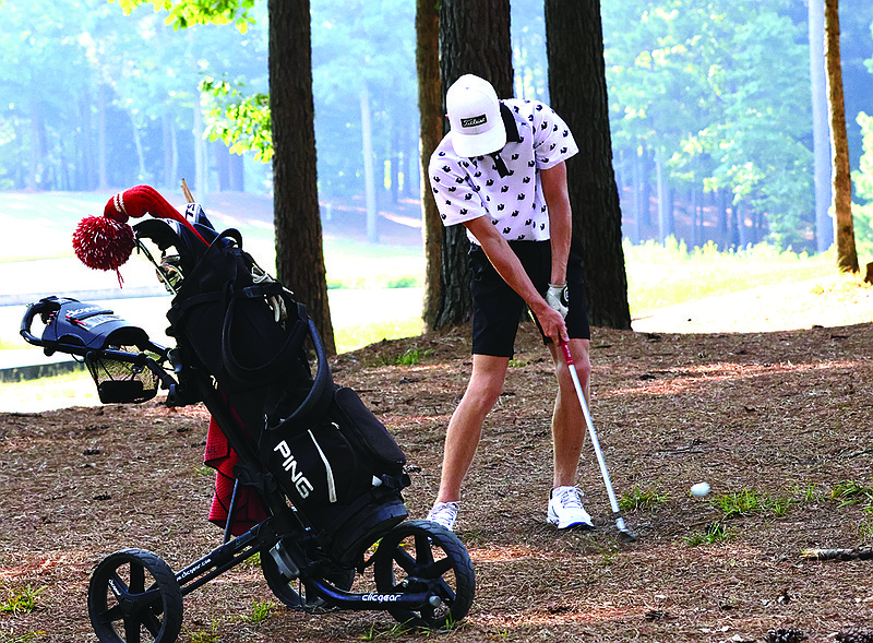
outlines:
{"label": "red knit club headcover with a large red pom-pom", "polygon": [[88,216],[79,223],[73,233],[75,255],[88,267],[116,271],[120,285],[121,273],[118,269],[130,259],[135,246],[133,228],[128,225],[128,218],[141,217],[146,213],[181,223],[206,243],[194,226],[157,190],[151,186],[136,186],[109,199],[101,217]]}

